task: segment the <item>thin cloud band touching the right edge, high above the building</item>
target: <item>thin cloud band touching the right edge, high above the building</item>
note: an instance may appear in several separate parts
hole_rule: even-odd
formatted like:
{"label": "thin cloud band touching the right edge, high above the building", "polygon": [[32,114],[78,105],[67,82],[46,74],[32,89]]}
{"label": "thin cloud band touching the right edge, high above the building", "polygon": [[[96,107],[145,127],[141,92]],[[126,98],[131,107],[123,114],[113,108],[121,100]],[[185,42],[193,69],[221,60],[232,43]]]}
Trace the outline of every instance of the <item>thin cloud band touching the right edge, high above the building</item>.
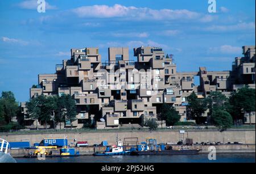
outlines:
{"label": "thin cloud band touching the right edge, high above the building", "polygon": [[221,31],[221,32],[226,32],[226,31],[242,31],[242,30],[255,30],[255,22],[250,22],[250,23],[238,23],[235,25],[230,25],[230,26],[210,26],[207,28],[204,28],[205,31]]}

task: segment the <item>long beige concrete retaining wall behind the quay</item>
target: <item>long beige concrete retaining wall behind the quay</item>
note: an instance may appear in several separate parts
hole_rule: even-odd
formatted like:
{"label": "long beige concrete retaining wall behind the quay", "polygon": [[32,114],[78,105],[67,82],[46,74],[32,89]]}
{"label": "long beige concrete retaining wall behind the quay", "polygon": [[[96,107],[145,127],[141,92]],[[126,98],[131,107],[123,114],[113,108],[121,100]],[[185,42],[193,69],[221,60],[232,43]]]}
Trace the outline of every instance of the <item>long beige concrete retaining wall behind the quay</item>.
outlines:
{"label": "long beige concrete retaining wall behind the quay", "polygon": [[[138,137],[139,142],[145,141],[147,137],[153,137],[158,140],[158,143],[166,142],[178,142],[180,138],[179,131],[126,131],[126,132],[94,132],[94,133],[55,133],[55,134],[0,134],[0,138],[6,139],[7,141],[30,141],[31,145],[42,141],[43,138],[63,138],[67,135],[68,141],[73,142],[73,139],[77,141],[88,141],[89,145],[95,143],[101,143],[102,141],[108,141],[109,145],[114,145],[118,139],[123,141],[125,137]],[[187,132],[184,134],[184,139],[187,137]],[[242,143],[253,143],[255,144],[255,130],[229,130],[229,131],[188,131],[188,138],[193,138],[193,142],[242,142]]]}

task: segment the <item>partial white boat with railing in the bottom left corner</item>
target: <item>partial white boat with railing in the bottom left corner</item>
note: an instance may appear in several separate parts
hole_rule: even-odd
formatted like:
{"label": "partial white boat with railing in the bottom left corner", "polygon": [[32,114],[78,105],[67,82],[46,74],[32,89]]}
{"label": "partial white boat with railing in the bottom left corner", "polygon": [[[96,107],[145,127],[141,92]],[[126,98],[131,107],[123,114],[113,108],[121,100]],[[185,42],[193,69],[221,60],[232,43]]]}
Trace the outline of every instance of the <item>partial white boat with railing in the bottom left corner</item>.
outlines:
{"label": "partial white boat with railing in the bottom left corner", "polygon": [[0,163],[16,163],[10,155],[10,144],[5,139],[0,138]]}

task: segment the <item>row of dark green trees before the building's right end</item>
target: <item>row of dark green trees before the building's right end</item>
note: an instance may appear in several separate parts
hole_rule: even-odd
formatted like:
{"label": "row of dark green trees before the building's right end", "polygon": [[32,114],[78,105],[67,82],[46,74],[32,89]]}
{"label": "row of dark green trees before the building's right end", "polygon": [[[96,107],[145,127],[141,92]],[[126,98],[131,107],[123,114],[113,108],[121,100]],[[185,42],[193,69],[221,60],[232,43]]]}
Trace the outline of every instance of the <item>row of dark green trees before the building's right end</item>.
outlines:
{"label": "row of dark green trees before the building's right end", "polygon": [[192,118],[198,121],[209,109],[208,124],[226,129],[233,125],[233,120],[243,120],[244,113],[255,111],[255,90],[245,86],[232,92],[229,97],[214,91],[204,99],[199,99],[193,92],[187,97],[187,101],[187,114]]}

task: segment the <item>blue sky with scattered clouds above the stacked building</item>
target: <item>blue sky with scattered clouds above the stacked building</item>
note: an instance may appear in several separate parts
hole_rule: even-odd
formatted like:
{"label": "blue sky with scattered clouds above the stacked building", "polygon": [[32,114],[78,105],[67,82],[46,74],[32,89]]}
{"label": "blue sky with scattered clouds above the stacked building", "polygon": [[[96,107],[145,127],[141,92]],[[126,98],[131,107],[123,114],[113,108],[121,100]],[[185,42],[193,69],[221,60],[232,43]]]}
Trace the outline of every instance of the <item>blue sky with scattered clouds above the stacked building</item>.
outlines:
{"label": "blue sky with scattered clouds above the stacked building", "polygon": [[29,98],[38,74],[55,73],[71,48],[160,46],[174,54],[177,71],[230,70],[241,46],[255,45],[255,0],[0,1],[0,92]]}

